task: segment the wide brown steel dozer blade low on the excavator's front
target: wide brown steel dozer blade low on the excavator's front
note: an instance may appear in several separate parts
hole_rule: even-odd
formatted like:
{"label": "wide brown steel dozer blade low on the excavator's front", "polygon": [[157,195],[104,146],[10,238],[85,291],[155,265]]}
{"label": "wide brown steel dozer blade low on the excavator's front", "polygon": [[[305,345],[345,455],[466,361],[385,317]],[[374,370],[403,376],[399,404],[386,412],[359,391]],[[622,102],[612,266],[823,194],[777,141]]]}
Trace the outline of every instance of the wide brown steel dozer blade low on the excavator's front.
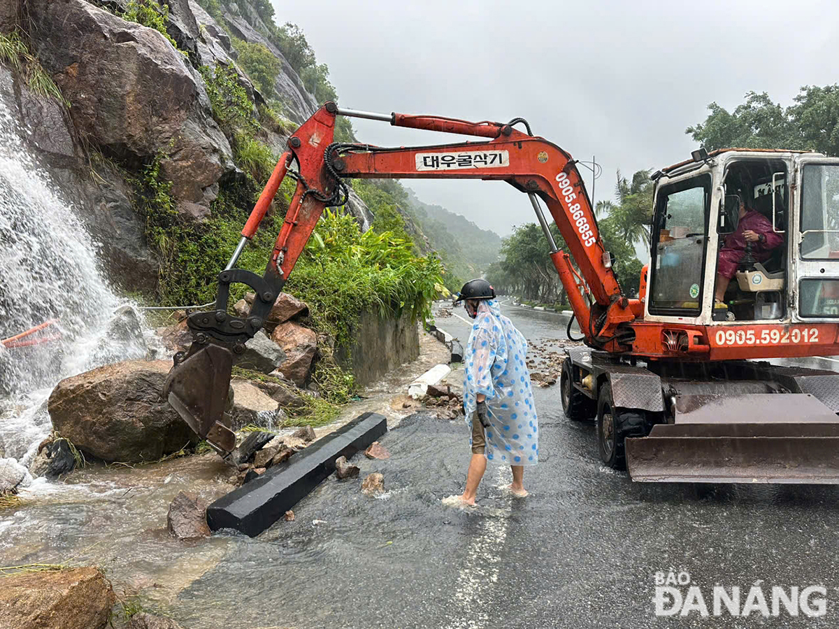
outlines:
{"label": "wide brown steel dozer blade low on the excavator's front", "polygon": [[633,480],[839,484],[839,417],[813,396],[682,396],[676,406],[687,411],[675,423],[626,440]]}

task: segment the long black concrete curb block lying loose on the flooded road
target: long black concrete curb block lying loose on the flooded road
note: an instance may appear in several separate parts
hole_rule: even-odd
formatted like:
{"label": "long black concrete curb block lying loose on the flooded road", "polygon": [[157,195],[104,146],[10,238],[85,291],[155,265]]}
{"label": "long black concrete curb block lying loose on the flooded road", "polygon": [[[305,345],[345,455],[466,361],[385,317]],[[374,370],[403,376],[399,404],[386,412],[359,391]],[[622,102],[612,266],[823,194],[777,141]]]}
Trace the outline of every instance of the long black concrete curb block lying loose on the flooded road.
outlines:
{"label": "long black concrete curb block lying loose on the flooded road", "polygon": [[360,417],[319,439],[288,463],[268,469],[256,479],[222,496],[207,507],[213,531],[232,528],[256,537],[335,471],[335,459],[349,459],[388,432],[388,420],[378,413]]}

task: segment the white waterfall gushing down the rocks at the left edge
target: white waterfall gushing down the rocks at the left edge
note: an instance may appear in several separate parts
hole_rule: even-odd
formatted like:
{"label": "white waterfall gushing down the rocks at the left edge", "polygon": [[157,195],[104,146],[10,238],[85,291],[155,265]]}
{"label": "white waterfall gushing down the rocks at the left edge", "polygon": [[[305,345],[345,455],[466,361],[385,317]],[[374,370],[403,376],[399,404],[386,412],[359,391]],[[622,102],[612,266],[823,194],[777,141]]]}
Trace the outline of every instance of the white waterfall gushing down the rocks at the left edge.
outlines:
{"label": "white waterfall gushing down the rocks at the left edge", "polygon": [[[59,380],[101,364],[145,354],[133,311],[108,286],[97,246],[29,155],[18,126],[0,101],[0,338],[55,319],[29,340],[0,344],[0,458],[29,459],[52,426],[46,400]],[[115,317],[137,334],[113,335]],[[3,454],[5,452],[5,454]]]}

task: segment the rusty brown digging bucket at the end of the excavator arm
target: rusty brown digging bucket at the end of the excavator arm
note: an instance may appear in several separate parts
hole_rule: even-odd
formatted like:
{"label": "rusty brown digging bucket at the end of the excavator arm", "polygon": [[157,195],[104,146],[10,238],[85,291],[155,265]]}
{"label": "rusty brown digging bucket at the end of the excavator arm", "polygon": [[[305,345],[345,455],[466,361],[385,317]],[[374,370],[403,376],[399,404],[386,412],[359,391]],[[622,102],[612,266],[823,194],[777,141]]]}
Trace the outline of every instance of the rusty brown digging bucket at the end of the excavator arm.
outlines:
{"label": "rusty brown digging bucket at the end of the excavator arm", "polygon": [[236,447],[236,434],[227,414],[228,390],[233,369],[232,352],[209,344],[175,364],[166,378],[164,395],[190,428],[223,453]]}

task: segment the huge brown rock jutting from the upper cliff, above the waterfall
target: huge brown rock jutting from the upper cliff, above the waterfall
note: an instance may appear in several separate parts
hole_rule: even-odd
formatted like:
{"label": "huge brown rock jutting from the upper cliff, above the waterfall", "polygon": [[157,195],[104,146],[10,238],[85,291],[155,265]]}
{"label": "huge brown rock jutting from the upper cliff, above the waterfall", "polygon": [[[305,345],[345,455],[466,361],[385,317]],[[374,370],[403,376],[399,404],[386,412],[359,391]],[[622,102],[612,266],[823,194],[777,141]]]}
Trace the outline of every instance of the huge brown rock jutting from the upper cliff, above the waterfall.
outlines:
{"label": "huge brown rock jutting from the upper cliff, above the waterfall", "polygon": [[154,29],[85,0],[29,0],[32,40],[72,103],[81,134],[110,155],[143,163],[164,155],[180,212],[206,218],[230,144],[212,118],[201,76]]}

